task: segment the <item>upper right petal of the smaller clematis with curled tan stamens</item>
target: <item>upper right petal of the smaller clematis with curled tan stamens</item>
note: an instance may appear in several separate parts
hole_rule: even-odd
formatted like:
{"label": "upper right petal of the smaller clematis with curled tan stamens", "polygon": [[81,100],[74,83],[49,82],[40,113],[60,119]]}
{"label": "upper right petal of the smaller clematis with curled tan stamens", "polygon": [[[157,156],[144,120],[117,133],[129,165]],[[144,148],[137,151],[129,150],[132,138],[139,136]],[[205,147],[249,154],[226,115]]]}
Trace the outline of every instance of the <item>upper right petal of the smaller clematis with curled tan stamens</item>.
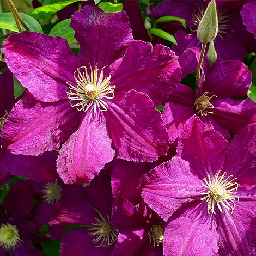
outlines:
{"label": "upper right petal of the smaller clematis with curled tan stamens", "polygon": [[252,72],[239,60],[214,63],[214,68],[207,74],[203,92],[223,97],[246,95],[252,83]]}

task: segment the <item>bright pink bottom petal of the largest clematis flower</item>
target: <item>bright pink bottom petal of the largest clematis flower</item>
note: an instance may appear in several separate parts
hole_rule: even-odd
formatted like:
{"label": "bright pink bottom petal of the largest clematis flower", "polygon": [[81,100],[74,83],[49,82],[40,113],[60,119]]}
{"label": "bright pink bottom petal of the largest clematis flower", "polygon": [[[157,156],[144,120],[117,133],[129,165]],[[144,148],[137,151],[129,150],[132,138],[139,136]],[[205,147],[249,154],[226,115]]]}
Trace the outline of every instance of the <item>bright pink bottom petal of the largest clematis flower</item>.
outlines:
{"label": "bright pink bottom petal of the largest clematis flower", "polygon": [[66,184],[89,183],[113,156],[105,118],[91,123],[88,113],[79,129],[62,145],[57,170]]}

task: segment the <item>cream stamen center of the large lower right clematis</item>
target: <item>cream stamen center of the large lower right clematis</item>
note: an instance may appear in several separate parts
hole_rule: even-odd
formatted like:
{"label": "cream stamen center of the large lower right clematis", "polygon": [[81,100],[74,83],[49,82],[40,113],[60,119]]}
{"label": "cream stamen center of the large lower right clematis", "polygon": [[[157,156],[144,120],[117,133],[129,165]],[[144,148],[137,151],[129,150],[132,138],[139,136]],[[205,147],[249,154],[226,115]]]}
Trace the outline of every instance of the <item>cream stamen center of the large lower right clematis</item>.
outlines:
{"label": "cream stamen center of the large lower right clematis", "polygon": [[207,188],[208,191],[202,191],[200,194],[204,195],[200,200],[206,200],[208,202],[208,214],[214,213],[215,204],[217,204],[220,212],[224,210],[231,211],[233,213],[235,209],[235,200],[239,201],[239,197],[235,196],[239,184],[234,182],[235,179],[231,179],[232,175],[226,176],[227,173],[223,173],[220,176],[221,170],[215,174],[214,177],[210,177],[209,173],[208,180],[205,177],[202,185]]}

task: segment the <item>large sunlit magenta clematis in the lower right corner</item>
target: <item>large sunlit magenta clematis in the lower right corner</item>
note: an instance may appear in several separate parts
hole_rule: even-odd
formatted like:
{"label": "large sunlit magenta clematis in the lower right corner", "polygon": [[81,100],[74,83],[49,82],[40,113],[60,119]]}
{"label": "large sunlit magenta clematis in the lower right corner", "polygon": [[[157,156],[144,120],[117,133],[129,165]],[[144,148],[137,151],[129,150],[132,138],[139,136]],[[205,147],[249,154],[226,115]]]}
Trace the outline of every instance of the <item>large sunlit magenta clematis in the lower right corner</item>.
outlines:
{"label": "large sunlit magenta clematis in the lower right corner", "polygon": [[194,116],[177,156],[143,176],[142,197],[167,221],[164,255],[255,255],[255,131],[229,145]]}

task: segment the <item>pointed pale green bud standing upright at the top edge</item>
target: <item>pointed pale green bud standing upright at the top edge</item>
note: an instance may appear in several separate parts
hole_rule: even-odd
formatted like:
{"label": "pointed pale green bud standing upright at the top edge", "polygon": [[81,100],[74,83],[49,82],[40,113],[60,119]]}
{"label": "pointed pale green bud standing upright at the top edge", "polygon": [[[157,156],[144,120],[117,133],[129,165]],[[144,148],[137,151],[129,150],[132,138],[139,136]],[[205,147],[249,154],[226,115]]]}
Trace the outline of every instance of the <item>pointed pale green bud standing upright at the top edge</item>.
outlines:
{"label": "pointed pale green bud standing upright at the top edge", "polygon": [[203,44],[214,40],[218,34],[218,16],[215,0],[211,0],[197,28],[197,38]]}

